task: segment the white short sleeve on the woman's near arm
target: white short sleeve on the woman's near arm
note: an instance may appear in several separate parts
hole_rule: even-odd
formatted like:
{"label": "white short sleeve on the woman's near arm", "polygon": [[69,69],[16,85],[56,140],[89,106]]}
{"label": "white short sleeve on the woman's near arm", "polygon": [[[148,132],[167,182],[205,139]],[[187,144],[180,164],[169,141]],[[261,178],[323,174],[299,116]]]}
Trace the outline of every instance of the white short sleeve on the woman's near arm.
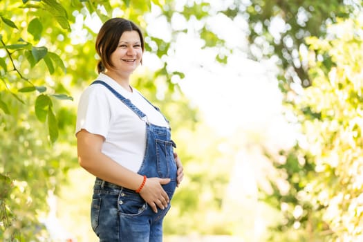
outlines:
{"label": "white short sleeve on the woman's near arm", "polygon": [[89,133],[106,138],[111,120],[109,99],[98,85],[91,85],[84,90],[77,109],[75,133],[86,129]]}

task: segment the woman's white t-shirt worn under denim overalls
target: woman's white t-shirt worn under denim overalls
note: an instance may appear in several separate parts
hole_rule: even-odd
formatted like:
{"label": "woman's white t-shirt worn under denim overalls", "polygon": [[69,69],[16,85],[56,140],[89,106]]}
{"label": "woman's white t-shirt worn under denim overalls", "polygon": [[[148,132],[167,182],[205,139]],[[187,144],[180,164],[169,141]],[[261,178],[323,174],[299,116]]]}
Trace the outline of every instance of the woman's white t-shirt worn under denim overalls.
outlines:
{"label": "woman's white t-shirt worn under denim overalls", "polygon": [[[97,80],[109,84],[115,91],[131,100],[152,124],[168,127],[164,116],[158,112],[136,89],[130,93],[111,77],[100,74]],[[146,148],[146,124],[106,86],[88,86],[80,97],[75,133],[86,129],[105,138],[102,153],[120,165],[137,172]]]}

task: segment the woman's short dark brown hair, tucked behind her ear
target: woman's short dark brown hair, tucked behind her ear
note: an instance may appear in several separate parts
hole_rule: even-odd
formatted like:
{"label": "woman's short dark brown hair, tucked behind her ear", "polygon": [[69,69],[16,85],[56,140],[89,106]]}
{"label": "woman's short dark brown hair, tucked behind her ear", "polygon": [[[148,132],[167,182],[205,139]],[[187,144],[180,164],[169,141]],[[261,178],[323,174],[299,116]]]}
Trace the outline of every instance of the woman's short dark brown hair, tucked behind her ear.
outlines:
{"label": "woman's short dark brown hair, tucked behind her ear", "polygon": [[142,37],[142,32],[140,28],[134,24],[132,21],[116,17],[109,19],[100,28],[96,38],[95,48],[97,54],[100,56],[100,61],[97,64],[98,73],[105,71],[106,67],[113,67],[110,56],[118,47],[118,41],[125,31],[138,32],[141,41],[142,52],[144,51],[144,38]]}

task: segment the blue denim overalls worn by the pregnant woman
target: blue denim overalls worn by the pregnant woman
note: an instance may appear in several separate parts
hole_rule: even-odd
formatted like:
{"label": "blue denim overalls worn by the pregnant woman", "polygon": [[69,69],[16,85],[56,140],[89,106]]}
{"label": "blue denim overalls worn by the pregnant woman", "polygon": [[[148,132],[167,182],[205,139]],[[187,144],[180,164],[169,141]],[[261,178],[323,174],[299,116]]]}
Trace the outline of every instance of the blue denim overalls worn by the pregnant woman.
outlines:
{"label": "blue denim overalls worn by the pregnant woman", "polygon": [[[170,178],[170,183],[162,187],[171,200],[176,189],[176,162],[173,154],[175,144],[171,140],[170,129],[149,123],[145,113],[105,82],[97,80],[92,84],[106,86],[145,121],[147,143],[138,174],[148,178]],[[155,109],[159,111],[158,108]],[[170,203],[164,210],[158,207],[158,212],[155,213],[140,194],[96,178],[91,204],[91,225],[100,242],[161,242],[162,219],[169,209]]]}

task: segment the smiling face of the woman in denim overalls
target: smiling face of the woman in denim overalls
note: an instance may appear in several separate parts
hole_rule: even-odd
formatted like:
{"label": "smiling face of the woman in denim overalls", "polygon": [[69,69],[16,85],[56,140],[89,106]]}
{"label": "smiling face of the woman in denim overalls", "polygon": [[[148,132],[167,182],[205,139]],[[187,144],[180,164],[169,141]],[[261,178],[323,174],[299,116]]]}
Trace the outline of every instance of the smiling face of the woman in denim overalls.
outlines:
{"label": "smiling face of the woman in denim overalls", "polygon": [[[110,56],[112,71],[131,74],[141,62],[142,46],[137,31],[125,31],[120,37],[118,47]],[[110,70],[110,71],[111,71]]]}

